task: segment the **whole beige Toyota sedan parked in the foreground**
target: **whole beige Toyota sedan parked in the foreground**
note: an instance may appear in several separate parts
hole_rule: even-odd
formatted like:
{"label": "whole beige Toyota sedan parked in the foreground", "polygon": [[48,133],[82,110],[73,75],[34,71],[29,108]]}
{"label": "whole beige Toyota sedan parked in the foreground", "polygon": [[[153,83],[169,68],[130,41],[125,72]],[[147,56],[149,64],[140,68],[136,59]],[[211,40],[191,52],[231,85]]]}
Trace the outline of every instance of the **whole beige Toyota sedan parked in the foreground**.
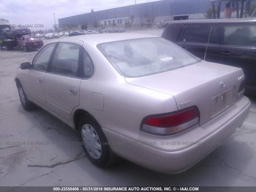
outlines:
{"label": "whole beige Toyota sedan parked in the foreground", "polygon": [[36,104],[78,130],[100,167],[116,154],[158,172],[182,172],[250,110],[242,69],[144,34],[56,40],[32,64],[22,63],[15,81],[24,109]]}

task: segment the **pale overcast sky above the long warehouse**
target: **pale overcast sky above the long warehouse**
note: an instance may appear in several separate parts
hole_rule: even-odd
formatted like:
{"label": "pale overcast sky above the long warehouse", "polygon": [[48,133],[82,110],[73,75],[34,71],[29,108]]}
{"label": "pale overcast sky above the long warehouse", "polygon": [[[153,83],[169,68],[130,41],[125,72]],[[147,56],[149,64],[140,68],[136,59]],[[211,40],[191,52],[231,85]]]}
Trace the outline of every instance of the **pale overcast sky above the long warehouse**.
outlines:
{"label": "pale overcast sky above the long warehouse", "polygon": [[[137,4],[156,0],[136,0]],[[43,24],[44,30],[52,28],[54,16],[56,24],[59,18],[100,11],[135,4],[135,0],[0,0],[0,18],[6,18],[10,24]],[[37,28],[30,28],[38,30]]]}

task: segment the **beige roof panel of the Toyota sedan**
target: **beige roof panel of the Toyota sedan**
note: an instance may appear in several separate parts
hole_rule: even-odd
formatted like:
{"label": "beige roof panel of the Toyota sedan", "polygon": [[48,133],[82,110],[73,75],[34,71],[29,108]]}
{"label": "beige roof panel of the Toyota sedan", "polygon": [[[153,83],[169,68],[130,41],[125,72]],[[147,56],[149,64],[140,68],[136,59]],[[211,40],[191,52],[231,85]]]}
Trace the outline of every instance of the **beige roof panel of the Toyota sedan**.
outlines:
{"label": "beige roof panel of the Toyota sedan", "polygon": [[68,38],[62,38],[59,42],[66,42],[72,40],[80,40],[86,44],[97,45],[100,43],[128,40],[128,39],[138,39],[138,38],[150,38],[157,37],[148,34],[135,34],[135,33],[105,33],[105,34],[90,34],[90,35],[80,35]]}

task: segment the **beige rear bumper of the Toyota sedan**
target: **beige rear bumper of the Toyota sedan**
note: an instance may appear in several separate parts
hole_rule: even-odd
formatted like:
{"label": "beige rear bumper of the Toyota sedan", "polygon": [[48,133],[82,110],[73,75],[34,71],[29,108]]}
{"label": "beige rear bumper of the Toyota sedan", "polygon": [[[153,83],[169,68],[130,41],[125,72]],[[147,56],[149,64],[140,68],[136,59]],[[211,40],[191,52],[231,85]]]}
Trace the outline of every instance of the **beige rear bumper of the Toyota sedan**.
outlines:
{"label": "beige rear bumper of the Toyota sedan", "polygon": [[[236,128],[246,120],[249,111],[250,100],[243,96],[228,110],[206,124],[198,126],[200,129],[214,130],[213,132],[205,135],[200,142],[195,140],[197,144],[187,145],[185,148],[176,151],[173,149],[172,151],[160,150],[152,145],[142,144],[105,128],[102,128],[102,130],[108,142],[112,143],[110,145],[112,151],[119,156],[157,172],[180,173],[202,160],[216,149],[223,140],[232,135]],[[184,132],[183,135],[188,138],[193,136],[193,134],[190,135],[191,133],[192,131]],[[152,135],[150,139],[152,140]],[[156,138],[156,142],[159,142],[159,137]]]}

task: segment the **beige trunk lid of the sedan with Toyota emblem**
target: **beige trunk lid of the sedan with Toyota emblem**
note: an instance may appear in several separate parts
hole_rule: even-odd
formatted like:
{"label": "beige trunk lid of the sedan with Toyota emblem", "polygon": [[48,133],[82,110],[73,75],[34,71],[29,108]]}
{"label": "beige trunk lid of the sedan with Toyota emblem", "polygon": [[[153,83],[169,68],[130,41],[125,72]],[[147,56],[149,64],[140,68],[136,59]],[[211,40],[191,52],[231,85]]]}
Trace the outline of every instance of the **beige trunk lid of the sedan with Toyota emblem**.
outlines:
{"label": "beige trunk lid of the sedan with Toyota emblem", "polygon": [[236,102],[243,71],[227,65],[199,62],[159,74],[125,78],[126,82],[174,96],[178,110],[197,106],[202,125]]}

